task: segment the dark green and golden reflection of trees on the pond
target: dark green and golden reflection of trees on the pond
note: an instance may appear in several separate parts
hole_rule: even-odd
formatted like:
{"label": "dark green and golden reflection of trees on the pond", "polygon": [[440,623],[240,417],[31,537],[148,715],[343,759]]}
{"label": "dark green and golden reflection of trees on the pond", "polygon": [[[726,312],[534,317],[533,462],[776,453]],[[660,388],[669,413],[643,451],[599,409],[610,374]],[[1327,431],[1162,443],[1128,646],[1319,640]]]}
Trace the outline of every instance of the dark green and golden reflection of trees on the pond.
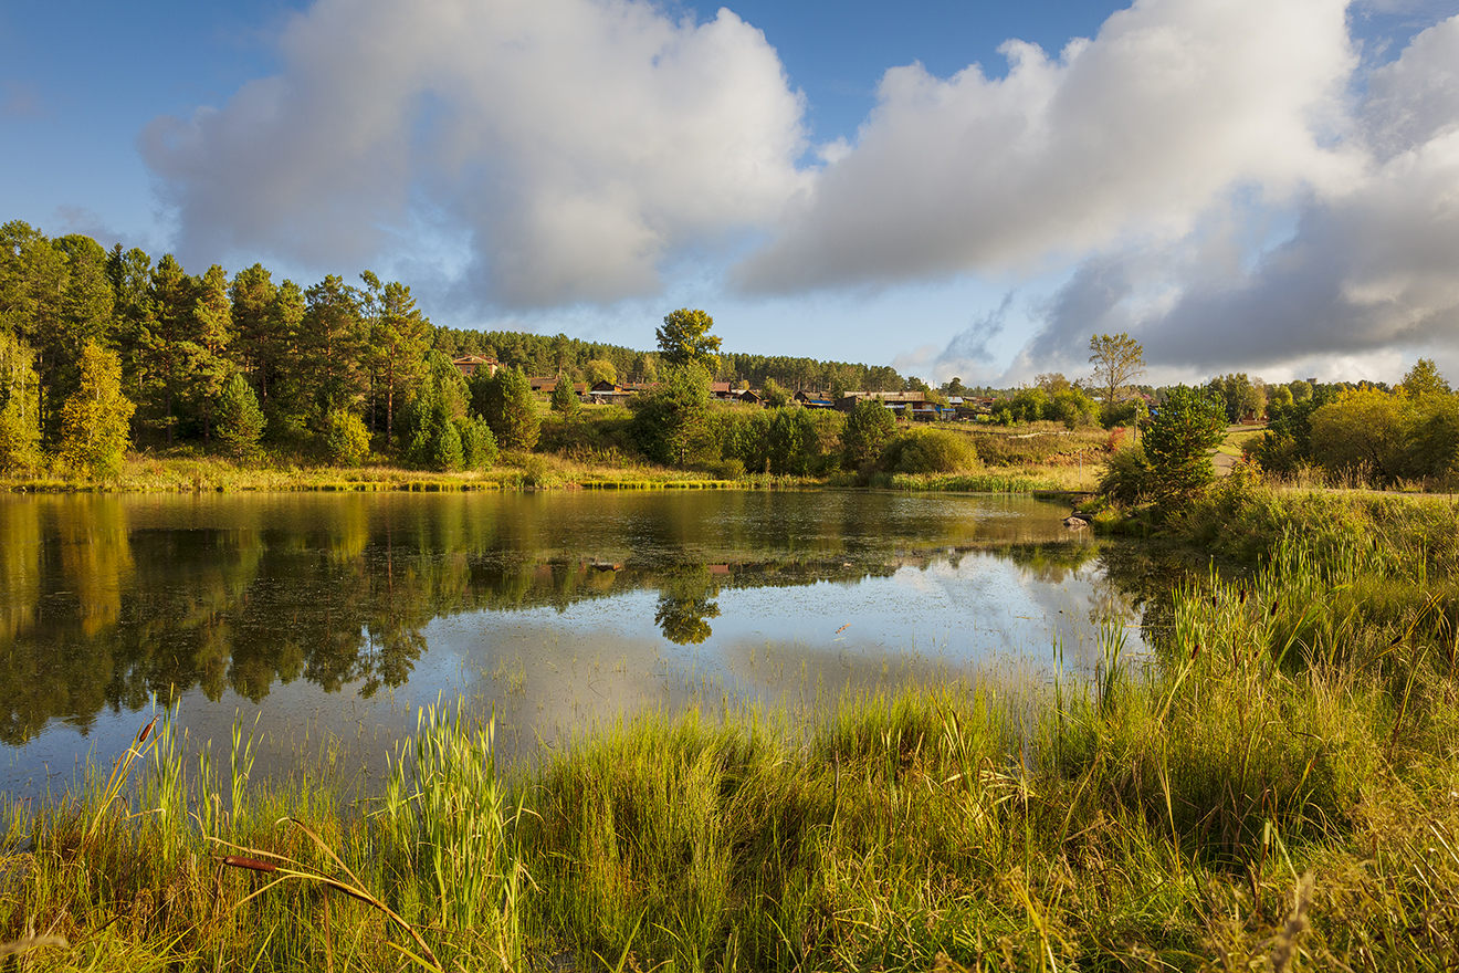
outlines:
{"label": "dark green and golden reflection of trees on the pond", "polygon": [[[305,678],[369,696],[409,680],[426,623],[458,611],[566,610],[657,589],[664,637],[694,645],[712,633],[722,588],[861,581],[989,548],[1059,584],[1100,557],[1090,543],[1018,544],[1013,528],[959,547],[948,541],[966,525],[937,505],[919,521],[881,497],[712,499],[708,515],[705,503],[662,497],[601,508],[233,499],[178,522],[169,503],[179,499],[6,499],[0,740],[23,743],[51,719],[85,729],[102,708],[139,709],[194,686],[257,702]],[[594,515],[603,508],[611,524]],[[894,550],[909,535],[925,554]]]}

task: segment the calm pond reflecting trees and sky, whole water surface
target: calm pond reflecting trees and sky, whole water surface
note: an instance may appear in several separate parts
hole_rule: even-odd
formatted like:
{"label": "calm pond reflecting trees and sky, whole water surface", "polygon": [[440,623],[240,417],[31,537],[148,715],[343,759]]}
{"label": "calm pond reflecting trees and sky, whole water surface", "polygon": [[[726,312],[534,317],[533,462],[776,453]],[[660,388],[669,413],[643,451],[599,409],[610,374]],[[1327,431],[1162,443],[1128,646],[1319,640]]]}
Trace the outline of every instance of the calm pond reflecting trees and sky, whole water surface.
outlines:
{"label": "calm pond reflecting trees and sky, whole water surface", "polygon": [[64,788],[168,700],[226,754],[352,754],[465,694],[552,747],[641,708],[824,708],[1088,671],[1138,610],[1032,497],[546,492],[0,497],[0,789]]}

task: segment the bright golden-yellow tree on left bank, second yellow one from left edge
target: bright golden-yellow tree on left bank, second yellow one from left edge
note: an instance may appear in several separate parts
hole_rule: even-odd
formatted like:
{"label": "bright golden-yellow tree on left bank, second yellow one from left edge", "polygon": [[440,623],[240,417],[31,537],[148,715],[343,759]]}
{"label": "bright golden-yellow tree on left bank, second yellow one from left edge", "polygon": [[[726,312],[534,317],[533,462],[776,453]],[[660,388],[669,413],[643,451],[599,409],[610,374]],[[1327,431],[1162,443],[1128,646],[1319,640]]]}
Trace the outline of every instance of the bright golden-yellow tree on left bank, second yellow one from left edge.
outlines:
{"label": "bright golden-yellow tree on left bank, second yellow one from left edge", "polygon": [[134,410],[121,394],[121,359],[89,341],[80,381],[61,408],[61,465],[93,480],[115,478],[131,443]]}

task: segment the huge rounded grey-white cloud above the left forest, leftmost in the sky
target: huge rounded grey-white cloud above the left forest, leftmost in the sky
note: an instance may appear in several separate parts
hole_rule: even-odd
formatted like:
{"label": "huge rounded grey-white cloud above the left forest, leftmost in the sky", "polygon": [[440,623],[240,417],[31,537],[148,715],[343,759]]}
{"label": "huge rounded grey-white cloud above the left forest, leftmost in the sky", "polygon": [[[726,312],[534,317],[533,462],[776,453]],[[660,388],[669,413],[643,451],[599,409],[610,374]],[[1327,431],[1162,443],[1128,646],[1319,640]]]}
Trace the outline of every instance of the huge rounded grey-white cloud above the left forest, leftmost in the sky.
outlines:
{"label": "huge rounded grey-white cloud above the left forest, leftmost in the sky", "polygon": [[801,98],[728,10],[320,0],[280,61],[140,139],[184,257],[357,263],[432,228],[468,241],[480,299],[611,302],[769,225],[805,179]]}

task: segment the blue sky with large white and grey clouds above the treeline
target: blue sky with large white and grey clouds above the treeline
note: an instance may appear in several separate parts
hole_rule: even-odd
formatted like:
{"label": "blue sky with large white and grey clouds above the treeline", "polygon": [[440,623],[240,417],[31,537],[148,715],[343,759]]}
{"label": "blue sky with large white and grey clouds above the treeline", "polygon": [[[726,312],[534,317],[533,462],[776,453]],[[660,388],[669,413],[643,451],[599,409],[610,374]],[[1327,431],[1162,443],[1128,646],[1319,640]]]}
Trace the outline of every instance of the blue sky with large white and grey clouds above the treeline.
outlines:
{"label": "blue sky with large white and grey clouds above the treeline", "polygon": [[0,4],[0,219],[1017,384],[1459,378],[1459,1]]}

